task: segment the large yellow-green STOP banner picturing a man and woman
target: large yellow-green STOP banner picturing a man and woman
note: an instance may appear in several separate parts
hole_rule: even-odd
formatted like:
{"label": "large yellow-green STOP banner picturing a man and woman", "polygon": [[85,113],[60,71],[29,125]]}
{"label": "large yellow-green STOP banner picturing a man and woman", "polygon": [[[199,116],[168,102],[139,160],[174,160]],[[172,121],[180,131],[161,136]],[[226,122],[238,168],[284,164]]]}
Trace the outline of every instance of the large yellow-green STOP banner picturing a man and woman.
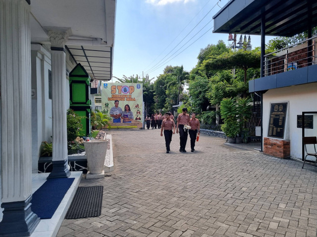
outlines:
{"label": "large yellow-green STOP banner picturing a man and woman", "polygon": [[111,117],[111,127],[143,127],[142,83],[101,83],[102,110]]}

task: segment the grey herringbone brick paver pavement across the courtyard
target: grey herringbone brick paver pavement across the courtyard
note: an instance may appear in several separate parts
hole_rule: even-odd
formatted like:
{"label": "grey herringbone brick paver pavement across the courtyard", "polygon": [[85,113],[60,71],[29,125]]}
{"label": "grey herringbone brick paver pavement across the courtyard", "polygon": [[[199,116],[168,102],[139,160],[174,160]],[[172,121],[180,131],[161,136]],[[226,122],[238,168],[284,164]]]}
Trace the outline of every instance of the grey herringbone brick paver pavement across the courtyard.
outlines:
{"label": "grey herringbone brick paver pavement across the courtyard", "polygon": [[316,237],[317,172],[201,135],[165,153],[159,129],[111,130],[115,170],[102,215],[64,220],[58,237]]}

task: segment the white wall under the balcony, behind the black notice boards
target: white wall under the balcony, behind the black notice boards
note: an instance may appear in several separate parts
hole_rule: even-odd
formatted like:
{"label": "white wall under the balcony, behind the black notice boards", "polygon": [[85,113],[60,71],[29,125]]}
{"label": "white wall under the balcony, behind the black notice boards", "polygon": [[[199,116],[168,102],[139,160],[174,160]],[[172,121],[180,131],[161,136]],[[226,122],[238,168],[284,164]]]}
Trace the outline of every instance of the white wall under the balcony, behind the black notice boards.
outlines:
{"label": "white wall under the balcony, behind the black notice boards", "polygon": [[[317,111],[317,83],[268,90],[263,102],[263,137],[267,137],[270,103],[288,102],[284,140],[290,140],[291,158],[302,159],[302,128],[297,128],[297,115]],[[305,136],[317,136],[317,114],[314,129],[305,129]]]}

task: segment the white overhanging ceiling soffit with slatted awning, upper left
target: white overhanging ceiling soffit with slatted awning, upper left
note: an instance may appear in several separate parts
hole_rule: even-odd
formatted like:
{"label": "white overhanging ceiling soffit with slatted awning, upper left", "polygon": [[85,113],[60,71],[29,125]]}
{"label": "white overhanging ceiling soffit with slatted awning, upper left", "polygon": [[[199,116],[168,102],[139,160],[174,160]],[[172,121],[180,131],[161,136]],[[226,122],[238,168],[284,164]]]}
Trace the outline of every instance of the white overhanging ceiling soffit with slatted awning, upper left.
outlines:
{"label": "white overhanging ceiling soffit with slatted awning, upper left", "polygon": [[67,50],[92,79],[112,76],[115,0],[31,0],[31,42],[50,43],[46,29],[69,29]]}

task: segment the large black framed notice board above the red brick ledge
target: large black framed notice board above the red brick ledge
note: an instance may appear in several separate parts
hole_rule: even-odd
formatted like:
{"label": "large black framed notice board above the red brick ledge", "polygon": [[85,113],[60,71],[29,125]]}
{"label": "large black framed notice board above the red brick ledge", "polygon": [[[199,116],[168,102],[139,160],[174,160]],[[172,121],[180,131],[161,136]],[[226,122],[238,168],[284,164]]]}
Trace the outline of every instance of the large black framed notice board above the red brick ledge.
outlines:
{"label": "large black framed notice board above the red brick ledge", "polygon": [[287,103],[271,104],[268,122],[268,137],[284,138]]}

